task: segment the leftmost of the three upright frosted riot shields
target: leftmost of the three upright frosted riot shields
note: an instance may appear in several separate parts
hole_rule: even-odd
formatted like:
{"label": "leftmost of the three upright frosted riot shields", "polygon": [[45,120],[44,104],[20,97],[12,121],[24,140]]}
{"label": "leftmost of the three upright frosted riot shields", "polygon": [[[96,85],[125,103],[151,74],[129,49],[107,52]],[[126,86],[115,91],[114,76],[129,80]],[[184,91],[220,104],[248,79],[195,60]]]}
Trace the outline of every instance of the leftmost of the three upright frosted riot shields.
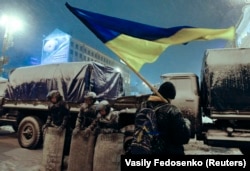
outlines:
{"label": "leftmost of the three upright frosted riot shields", "polygon": [[42,170],[62,170],[65,130],[59,134],[57,128],[46,130],[43,144]]}

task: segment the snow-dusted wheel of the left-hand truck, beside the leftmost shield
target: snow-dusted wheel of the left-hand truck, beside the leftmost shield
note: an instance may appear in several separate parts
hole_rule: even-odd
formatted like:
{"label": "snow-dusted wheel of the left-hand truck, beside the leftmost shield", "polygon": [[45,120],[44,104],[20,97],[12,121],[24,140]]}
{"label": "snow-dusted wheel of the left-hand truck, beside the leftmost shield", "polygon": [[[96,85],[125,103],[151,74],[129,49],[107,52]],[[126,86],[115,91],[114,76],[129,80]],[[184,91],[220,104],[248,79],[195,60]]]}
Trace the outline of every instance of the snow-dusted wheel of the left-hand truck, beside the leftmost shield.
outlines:
{"label": "snow-dusted wheel of the left-hand truck, beside the leftmost shield", "polygon": [[36,149],[42,143],[42,121],[36,116],[22,119],[18,127],[18,143],[22,148]]}

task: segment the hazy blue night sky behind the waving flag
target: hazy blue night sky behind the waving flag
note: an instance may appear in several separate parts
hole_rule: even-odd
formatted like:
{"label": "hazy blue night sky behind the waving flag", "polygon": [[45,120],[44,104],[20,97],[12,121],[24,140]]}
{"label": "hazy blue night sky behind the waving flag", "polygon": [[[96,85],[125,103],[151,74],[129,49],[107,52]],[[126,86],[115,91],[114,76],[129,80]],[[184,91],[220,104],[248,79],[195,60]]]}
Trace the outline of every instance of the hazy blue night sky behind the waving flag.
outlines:
{"label": "hazy blue night sky behind the waving flag", "polygon": [[[249,0],[1,0],[0,14],[16,15],[24,23],[23,30],[14,35],[14,46],[8,52],[9,67],[21,66],[30,57],[40,58],[42,40],[55,28],[119,60],[65,7],[65,2],[92,12],[166,28],[236,26],[242,7],[250,3]],[[3,34],[4,29],[0,28],[1,40]],[[145,64],[140,73],[153,84],[160,82],[161,74],[169,72],[200,75],[205,50],[223,48],[226,43],[213,40],[171,46],[155,63]],[[141,80],[132,76],[132,82],[140,84]]]}

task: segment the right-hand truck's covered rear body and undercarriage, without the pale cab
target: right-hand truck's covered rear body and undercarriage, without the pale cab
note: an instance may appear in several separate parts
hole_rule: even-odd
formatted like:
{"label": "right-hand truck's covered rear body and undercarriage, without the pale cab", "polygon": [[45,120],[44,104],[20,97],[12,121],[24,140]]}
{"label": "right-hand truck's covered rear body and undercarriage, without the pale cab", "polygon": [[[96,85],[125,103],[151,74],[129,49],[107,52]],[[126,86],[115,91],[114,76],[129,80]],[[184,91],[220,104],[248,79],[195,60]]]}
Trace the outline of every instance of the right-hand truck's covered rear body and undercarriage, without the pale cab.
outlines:
{"label": "right-hand truck's covered rear body and undercarriage, without the pale cab", "polygon": [[250,49],[207,50],[201,70],[201,106],[213,119],[204,143],[250,154]]}

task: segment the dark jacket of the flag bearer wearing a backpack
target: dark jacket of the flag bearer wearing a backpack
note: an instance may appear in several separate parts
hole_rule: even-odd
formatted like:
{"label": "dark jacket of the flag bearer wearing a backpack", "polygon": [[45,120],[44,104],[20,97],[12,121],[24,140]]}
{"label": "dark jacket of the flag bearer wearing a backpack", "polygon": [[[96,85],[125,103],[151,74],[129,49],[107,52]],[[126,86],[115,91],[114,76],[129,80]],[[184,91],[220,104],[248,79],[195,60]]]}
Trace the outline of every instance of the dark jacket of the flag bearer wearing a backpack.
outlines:
{"label": "dark jacket of the flag bearer wearing a backpack", "polygon": [[184,155],[183,145],[190,139],[190,121],[183,117],[180,109],[158,97],[148,100],[146,106],[162,106],[156,111],[159,136],[152,143],[152,152],[157,155]]}

